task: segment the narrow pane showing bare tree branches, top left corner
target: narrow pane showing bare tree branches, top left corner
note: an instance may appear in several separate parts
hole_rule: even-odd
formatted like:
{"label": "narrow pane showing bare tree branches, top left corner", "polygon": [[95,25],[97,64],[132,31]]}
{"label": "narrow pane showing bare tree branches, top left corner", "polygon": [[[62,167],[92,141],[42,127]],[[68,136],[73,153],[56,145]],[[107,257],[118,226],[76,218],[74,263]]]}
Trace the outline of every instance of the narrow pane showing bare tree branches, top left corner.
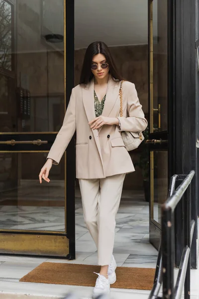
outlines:
{"label": "narrow pane showing bare tree branches, top left corner", "polygon": [[11,5],[0,0],[0,67],[12,68],[12,19]]}

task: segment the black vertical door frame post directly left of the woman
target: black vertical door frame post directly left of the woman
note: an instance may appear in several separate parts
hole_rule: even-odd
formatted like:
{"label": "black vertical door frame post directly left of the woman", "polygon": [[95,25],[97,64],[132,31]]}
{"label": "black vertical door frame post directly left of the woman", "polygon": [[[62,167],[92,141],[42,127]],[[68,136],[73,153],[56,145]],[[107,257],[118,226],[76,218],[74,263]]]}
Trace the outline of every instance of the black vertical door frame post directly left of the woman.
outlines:
{"label": "black vertical door frame post directly left of the woman", "polygon": [[[66,1],[66,108],[75,86],[75,3]],[[68,259],[75,259],[75,136],[66,150],[66,198],[67,198],[67,238],[69,239]]]}

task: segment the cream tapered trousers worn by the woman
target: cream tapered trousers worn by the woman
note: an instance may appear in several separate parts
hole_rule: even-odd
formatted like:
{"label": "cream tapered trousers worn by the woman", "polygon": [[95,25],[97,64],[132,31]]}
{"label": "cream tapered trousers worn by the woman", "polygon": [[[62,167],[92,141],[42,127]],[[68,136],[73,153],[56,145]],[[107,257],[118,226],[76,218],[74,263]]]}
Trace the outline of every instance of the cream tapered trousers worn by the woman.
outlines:
{"label": "cream tapered trousers worn by the woman", "polygon": [[115,216],[125,174],[79,179],[84,219],[98,248],[98,264],[108,265],[114,245]]}

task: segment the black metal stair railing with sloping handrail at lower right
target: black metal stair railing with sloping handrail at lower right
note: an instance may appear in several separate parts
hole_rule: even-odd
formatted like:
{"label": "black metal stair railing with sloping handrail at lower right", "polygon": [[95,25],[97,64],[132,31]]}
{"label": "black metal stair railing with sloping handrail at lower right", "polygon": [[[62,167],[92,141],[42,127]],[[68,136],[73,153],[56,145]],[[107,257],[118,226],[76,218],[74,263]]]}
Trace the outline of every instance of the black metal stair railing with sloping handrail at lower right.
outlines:
{"label": "black metal stair railing with sloping handrail at lower right", "polygon": [[[170,182],[167,201],[162,205],[162,237],[158,252],[154,285],[148,299],[190,299],[190,252],[195,229],[195,221],[191,220],[191,181],[195,175],[192,170],[188,175],[173,175]],[[176,181],[182,181],[175,190]],[[175,227],[174,211],[179,201],[184,198],[184,249],[180,268],[174,286],[175,266]],[[159,297],[161,285],[162,297]]]}

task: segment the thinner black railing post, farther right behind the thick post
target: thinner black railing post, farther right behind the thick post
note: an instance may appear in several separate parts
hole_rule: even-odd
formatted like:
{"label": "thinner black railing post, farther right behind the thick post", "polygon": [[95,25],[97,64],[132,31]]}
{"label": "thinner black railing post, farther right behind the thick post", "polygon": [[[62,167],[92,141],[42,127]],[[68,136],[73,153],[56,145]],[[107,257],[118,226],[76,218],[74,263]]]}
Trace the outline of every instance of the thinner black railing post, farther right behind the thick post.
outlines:
{"label": "thinner black railing post, farther right behind the thick post", "polygon": [[[184,196],[184,204],[185,204],[185,225],[184,225],[184,247],[189,247],[191,249],[191,190],[192,183],[190,183],[187,192],[185,192]],[[191,255],[191,253],[190,253]],[[185,277],[185,285],[184,285],[184,298],[190,299],[190,269],[191,269],[191,257],[189,255],[186,277]]]}

